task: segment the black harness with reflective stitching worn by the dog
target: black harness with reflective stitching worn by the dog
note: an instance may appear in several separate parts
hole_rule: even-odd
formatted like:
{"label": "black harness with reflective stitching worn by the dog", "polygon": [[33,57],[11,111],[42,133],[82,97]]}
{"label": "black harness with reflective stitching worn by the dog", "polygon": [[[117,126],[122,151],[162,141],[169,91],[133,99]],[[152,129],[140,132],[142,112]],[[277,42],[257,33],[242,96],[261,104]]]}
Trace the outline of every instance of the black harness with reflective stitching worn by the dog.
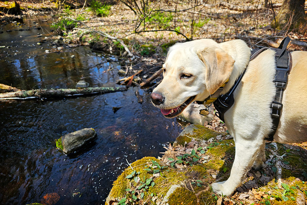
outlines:
{"label": "black harness with reflective stitching worn by the dog", "polygon": [[[282,40],[279,47],[276,48],[268,48],[268,47],[260,47],[257,49],[251,49],[251,58],[250,61],[253,60],[255,57],[258,56],[262,51],[266,49],[271,49],[275,51],[275,62],[276,62],[276,74],[274,79],[274,84],[276,87],[276,93],[273,98],[273,101],[271,103],[271,116],[273,119],[273,127],[272,131],[269,133],[269,135],[265,138],[268,141],[273,140],[273,136],[277,130],[278,124],[279,124],[279,118],[280,113],[282,110],[282,95],[283,91],[286,88],[287,81],[288,81],[288,74],[290,72],[290,69],[292,67],[292,58],[291,53],[289,51],[286,51],[287,45],[290,42],[290,38],[286,37]],[[246,69],[245,69],[246,70]],[[235,84],[232,86],[232,88],[226,93],[222,94],[219,97],[217,97],[216,100],[213,101],[214,107],[216,108],[217,112],[215,113],[216,116],[220,118],[223,122],[224,120],[224,114],[225,112],[231,108],[231,106],[234,104],[235,100],[233,97],[233,92],[238,87],[244,73],[241,73],[239,78],[235,81]],[[221,91],[219,91],[221,92]],[[208,99],[205,99],[205,101],[196,101],[198,104],[208,104],[206,101],[210,102],[210,97]],[[200,111],[201,114],[201,111]]]}

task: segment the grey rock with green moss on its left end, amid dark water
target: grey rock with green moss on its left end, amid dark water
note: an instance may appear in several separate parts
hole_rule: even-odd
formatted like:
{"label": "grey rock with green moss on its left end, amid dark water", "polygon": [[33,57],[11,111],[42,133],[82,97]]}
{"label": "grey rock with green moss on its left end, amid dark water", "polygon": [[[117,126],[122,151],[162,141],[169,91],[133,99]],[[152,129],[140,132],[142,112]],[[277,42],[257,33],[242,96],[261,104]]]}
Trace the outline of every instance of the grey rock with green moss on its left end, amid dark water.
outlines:
{"label": "grey rock with green moss on its left end, amid dark water", "polygon": [[84,144],[91,141],[95,135],[96,132],[93,128],[84,128],[62,136],[64,154],[71,154],[77,151]]}

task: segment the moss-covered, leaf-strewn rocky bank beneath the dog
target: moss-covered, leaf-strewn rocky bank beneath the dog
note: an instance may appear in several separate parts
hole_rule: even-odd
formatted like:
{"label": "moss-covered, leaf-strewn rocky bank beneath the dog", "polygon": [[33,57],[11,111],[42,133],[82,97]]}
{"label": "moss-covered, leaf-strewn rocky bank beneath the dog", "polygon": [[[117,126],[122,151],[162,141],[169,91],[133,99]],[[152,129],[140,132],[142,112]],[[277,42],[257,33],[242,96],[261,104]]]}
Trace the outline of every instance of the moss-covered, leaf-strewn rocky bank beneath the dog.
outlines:
{"label": "moss-covered, leaf-strewn rocky bank beneath the dog", "polygon": [[126,168],[113,183],[105,204],[292,205],[307,197],[306,150],[278,144],[278,154],[284,160],[282,169],[287,170],[279,187],[275,179],[276,159],[268,151],[271,143],[266,145],[266,168],[251,169],[244,185],[231,197],[213,193],[210,184],[230,175],[235,143],[228,138],[200,125],[186,127],[173,146],[166,148],[164,156],[144,157]]}

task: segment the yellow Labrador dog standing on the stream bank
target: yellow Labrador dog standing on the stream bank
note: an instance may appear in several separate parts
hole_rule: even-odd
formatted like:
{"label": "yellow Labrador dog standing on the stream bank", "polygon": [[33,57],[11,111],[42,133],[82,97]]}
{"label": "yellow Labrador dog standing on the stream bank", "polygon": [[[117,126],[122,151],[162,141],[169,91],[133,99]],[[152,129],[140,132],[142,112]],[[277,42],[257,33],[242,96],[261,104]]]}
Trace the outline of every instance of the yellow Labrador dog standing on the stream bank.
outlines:
{"label": "yellow Labrador dog standing on the stream bank", "polygon": [[[307,141],[307,52],[294,51],[282,114],[274,140]],[[270,104],[275,95],[274,51],[265,50],[250,61],[251,51],[242,40],[217,43],[200,39],[173,45],[163,65],[163,80],[151,94],[165,117],[179,115],[193,101],[204,101],[227,79],[225,94],[246,68],[234,92],[235,103],[225,112],[227,128],[235,140],[235,160],[230,177],[213,183],[213,191],[231,195],[254,166],[265,161],[265,140],[272,128]]]}

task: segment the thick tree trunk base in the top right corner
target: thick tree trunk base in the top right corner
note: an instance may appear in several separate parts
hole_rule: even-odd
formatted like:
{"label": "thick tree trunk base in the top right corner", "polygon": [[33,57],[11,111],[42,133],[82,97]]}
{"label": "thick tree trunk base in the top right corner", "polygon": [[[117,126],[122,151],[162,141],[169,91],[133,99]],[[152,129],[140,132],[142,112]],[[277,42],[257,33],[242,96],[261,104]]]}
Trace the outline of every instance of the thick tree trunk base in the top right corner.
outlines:
{"label": "thick tree trunk base in the top right corner", "polygon": [[305,0],[285,0],[271,27],[278,30],[298,29],[305,32],[307,17],[305,14]]}

